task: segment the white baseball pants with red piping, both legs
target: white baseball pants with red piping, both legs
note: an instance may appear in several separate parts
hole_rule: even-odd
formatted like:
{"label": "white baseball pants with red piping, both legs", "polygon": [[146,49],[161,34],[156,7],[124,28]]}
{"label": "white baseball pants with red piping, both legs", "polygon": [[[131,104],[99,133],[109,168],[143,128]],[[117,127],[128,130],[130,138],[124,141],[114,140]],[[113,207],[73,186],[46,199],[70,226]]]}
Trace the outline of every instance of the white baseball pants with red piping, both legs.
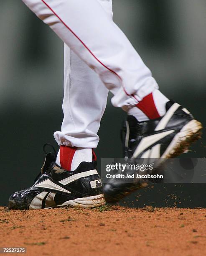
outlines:
{"label": "white baseball pants with red piping, both legs", "polygon": [[64,120],[58,145],[96,148],[108,90],[132,108],[158,84],[112,21],[112,0],[23,0],[64,41]]}

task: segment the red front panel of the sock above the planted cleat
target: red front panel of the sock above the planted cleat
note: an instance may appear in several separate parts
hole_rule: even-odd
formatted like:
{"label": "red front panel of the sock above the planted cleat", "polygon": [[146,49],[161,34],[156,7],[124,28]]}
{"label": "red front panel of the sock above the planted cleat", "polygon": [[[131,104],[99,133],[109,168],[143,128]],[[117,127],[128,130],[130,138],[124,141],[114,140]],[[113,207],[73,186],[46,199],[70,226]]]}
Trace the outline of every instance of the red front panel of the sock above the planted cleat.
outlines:
{"label": "red front panel of the sock above the planted cleat", "polygon": [[71,162],[75,151],[76,147],[60,146],[60,164],[65,170],[71,170]]}

